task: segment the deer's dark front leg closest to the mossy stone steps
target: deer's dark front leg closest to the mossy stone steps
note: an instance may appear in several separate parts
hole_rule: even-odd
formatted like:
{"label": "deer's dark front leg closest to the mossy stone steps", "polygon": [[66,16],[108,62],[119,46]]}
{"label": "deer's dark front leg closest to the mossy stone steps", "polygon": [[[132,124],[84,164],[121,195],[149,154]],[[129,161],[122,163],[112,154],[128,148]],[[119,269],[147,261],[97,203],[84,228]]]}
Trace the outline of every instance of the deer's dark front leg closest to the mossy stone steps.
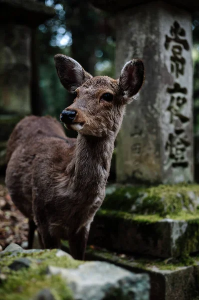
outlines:
{"label": "deer's dark front leg closest to the mossy stone steps", "polygon": [[83,226],[79,230],[69,230],[68,241],[70,247],[70,254],[79,260],[84,260],[84,254],[88,239],[90,225]]}

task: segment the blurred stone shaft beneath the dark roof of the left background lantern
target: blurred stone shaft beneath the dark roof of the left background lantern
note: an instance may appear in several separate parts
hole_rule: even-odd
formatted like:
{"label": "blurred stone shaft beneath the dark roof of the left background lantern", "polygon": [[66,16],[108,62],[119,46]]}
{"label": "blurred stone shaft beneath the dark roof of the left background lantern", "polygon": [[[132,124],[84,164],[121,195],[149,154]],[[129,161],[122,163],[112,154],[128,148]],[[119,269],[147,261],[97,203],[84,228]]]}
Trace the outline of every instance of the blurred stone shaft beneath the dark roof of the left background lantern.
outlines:
{"label": "blurred stone shaft beneath the dark roof of the left background lantern", "polygon": [[31,30],[17,24],[0,26],[0,107],[30,113]]}

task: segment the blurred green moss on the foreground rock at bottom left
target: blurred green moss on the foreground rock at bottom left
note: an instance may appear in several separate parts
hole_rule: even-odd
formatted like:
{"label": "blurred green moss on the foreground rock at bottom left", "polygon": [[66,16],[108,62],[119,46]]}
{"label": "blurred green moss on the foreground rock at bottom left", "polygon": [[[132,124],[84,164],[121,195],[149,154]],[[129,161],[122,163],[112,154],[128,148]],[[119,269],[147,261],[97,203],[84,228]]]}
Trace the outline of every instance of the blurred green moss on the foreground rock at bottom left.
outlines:
{"label": "blurred green moss on the foreground rock at bottom left", "polygon": [[[0,260],[1,274],[7,277],[0,284],[0,300],[26,300],[32,298],[39,290],[48,288],[56,300],[72,300],[72,292],[59,275],[48,276],[48,265],[75,268],[82,261],[68,256],[55,256],[56,249],[31,254],[18,253],[16,256],[3,255]],[[7,266],[18,257],[27,257],[32,261],[28,269],[10,270]]]}

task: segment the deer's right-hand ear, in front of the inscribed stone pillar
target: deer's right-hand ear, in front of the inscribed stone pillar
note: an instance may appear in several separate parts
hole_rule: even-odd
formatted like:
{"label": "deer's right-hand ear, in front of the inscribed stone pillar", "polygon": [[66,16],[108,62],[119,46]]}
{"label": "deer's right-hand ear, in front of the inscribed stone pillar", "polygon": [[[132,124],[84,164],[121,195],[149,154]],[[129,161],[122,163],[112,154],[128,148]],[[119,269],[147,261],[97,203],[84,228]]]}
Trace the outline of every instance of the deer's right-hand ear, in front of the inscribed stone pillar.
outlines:
{"label": "deer's right-hand ear, in front of the inscribed stone pillar", "polygon": [[123,66],[120,73],[119,85],[127,102],[138,93],[144,82],[144,77],[145,71],[142,60],[133,59]]}

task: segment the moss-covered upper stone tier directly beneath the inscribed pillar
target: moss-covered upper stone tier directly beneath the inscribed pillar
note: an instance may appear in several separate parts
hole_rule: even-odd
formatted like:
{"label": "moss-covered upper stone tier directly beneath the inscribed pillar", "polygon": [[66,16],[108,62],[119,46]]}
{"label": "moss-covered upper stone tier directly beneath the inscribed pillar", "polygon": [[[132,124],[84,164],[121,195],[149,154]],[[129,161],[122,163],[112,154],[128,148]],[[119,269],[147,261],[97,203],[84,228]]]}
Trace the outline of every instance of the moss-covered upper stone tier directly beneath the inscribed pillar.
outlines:
{"label": "moss-covered upper stone tier directly beneath the inscribed pillar", "polygon": [[107,187],[102,208],[165,217],[183,210],[192,212],[197,208],[194,201],[197,196],[197,184],[160,184],[152,187],[113,185]]}

